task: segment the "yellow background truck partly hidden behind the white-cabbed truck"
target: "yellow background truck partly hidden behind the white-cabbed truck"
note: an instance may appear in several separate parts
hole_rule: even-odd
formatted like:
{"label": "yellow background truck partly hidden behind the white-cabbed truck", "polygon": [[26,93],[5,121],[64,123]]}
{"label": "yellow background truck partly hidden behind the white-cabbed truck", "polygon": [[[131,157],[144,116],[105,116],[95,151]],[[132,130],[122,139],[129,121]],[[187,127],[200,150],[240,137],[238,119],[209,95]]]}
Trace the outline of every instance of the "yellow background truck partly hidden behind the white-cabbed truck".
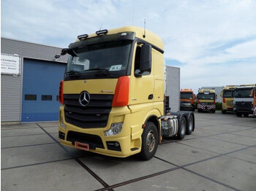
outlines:
{"label": "yellow background truck partly hidden behind the white-cabbed truck", "polygon": [[227,85],[222,87],[222,91],[220,93],[220,96],[222,97],[222,114],[225,114],[226,112],[233,112],[234,90],[236,87],[236,85]]}

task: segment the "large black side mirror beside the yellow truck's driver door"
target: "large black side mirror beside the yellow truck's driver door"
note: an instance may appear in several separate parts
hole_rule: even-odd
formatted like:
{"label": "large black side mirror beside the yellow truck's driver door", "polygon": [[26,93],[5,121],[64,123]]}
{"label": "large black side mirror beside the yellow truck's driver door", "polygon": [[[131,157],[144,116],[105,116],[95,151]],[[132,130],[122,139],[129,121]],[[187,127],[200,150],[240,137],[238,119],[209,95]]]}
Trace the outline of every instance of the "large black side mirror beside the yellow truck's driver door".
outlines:
{"label": "large black side mirror beside the yellow truck's driver door", "polygon": [[151,45],[143,44],[140,52],[140,71],[151,71]]}

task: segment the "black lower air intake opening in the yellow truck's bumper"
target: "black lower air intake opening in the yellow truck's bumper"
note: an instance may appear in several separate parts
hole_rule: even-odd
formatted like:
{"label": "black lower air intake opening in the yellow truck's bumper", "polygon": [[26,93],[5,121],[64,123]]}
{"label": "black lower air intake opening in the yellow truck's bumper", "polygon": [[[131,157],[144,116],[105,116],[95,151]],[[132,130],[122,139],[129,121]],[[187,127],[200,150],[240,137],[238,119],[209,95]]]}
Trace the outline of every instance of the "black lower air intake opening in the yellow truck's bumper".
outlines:
{"label": "black lower air intake opening in the yellow truck's bumper", "polygon": [[73,145],[75,144],[75,141],[89,144],[90,149],[95,149],[96,147],[104,149],[104,145],[100,136],[95,136],[91,134],[78,133],[69,130],[69,132],[67,133],[67,141],[72,141]]}

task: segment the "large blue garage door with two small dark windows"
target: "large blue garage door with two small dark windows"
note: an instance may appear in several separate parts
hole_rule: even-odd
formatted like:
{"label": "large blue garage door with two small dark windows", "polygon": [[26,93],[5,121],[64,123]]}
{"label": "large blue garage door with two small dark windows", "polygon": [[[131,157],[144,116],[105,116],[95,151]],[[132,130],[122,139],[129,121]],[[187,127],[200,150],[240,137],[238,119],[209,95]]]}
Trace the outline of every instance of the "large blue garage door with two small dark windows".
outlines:
{"label": "large blue garage door with two small dark windows", "polygon": [[24,59],[22,122],[59,119],[59,82],[66,64]]}

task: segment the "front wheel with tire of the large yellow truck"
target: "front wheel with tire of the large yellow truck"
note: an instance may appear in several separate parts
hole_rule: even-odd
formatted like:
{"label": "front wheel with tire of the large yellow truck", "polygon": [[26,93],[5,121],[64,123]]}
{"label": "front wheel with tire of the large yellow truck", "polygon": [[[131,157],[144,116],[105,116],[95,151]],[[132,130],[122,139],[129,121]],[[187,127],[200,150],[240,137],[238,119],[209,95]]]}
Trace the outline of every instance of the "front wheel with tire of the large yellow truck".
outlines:
{"label": "front wheel with tire of the large yellow truck", "polygon": [[150,160],[157,152],[158,146],[158,130],[154,122],[146,123],[146,128],[143,130],[141,138],[140,158],[142,160]]}

